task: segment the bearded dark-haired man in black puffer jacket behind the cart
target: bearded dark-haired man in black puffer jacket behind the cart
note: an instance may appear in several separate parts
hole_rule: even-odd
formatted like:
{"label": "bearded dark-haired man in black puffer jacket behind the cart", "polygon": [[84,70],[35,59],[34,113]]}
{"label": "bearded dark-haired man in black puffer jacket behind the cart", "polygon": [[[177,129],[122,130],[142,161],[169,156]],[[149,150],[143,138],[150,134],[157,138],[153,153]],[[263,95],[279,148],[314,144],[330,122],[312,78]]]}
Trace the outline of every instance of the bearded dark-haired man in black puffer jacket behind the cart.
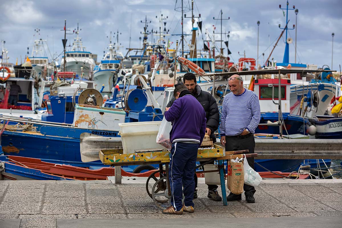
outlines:
{"label": "bearded dark-haired man in black puffer jacket behind the cart", "polygon": [[[210,93],[202,91],[200,86],[197,84],[196,76],[193,73],[185,73],[185,75],[183,76],[183,82],[184,82],[184,85],[188,88],[188,90],[192,94],[194,94],[198,102],[202,105],[202,107],[206,111],[206,118],[207,118],[206,132],[215,143],[216,137],[215,137],[214,132],[218,129],[219,121],[220,121],[219,108],[217,107],[215,98]],[[175,100],[176,98],[173,97],[166,107],[171,107],[171,105],[173,104]],[[214,162],[212,162],[211,164],[214,164]],[[194,199],[197,198],[196,188],[197,188],[197,176],[195,174]],[[217,188],[218,188],[217,185],[208,185],[208,198],[209,199],[212,199],[215,201],[222,200],[221,196],[219,196]]]}

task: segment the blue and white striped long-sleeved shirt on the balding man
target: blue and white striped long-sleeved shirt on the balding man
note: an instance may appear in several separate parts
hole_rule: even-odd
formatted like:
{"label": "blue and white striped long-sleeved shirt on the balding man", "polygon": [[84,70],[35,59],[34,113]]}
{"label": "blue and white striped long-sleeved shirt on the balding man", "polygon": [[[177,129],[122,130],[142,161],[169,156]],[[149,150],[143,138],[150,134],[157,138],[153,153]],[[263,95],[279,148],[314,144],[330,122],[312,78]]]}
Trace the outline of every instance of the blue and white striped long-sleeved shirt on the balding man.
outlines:
{"label": "blue and white striped long-sleeved shirt on the balding man", "polygon": [[245,89],[240,95],[228,93],[223,98],[220,123],[221,136],[241,134],[245,129],[254,133],[260,122],[260,103],[257,94]]}

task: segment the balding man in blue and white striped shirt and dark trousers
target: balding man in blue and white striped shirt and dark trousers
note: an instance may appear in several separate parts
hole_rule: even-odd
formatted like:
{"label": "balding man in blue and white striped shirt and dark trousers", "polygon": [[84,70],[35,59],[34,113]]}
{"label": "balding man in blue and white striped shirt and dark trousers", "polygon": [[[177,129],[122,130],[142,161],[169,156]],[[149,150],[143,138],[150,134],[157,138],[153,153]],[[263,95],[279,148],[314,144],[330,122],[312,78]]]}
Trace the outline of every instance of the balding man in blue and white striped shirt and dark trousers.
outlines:
{"label": "balding man in blue and white striped shirt and dark trousers", "polygon": [[[220,123],[221,144],[226,151],[249,150],[254,153],[253,133],[260,122],[260,103],[257,94],[244,88],[244,80],[239,75],[228,78],[229,89],[232,91],[223,98]],[[254,158],[247,158],[248,164],[254,169]],[[246,201],[254,203],[255,189],[244,184]],[[241,194],[230,193],[227,201],[241,200]]]}

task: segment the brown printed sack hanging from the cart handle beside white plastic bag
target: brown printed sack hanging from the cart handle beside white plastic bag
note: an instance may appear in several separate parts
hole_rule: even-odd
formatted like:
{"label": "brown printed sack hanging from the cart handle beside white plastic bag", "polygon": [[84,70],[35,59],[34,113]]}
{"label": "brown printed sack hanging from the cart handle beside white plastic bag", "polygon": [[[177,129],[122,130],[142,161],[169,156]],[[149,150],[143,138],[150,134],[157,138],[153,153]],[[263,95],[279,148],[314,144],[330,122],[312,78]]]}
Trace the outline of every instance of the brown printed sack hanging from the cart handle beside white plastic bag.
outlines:
{"label": "brown printed sack hanging from the cart handle beside white plastic bag", "polygon": [[227,187],[229,191],[238,195],[244,192],[244,165],[242,162],[228,161]]}

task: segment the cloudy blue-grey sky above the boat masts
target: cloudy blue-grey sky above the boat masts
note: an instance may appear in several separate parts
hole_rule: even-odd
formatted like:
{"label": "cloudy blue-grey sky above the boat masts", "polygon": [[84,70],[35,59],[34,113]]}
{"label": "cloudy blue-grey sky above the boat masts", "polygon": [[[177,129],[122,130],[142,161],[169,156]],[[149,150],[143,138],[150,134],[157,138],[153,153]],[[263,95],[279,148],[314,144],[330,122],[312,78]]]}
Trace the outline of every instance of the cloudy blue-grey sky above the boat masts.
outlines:
{"label": "cloudy blue-grey sky above the boat masts", "polygon": [[[159,21],[156,16],[163,14],[168,16],[166,27],[170,34],[180,34],[181,13],[174,10],[180,6],[181,0],[0,0],[2,6],[2,22],[0,23],[0,39],[6,41],[6,48],[9,51],[10,62],[15,63],[16,58],[24,59],[27,47],[33,44],[37,38],[35,28],[40,29],[40,38],[48,40],[49,50],[54,57],[63,51],[61,39],[64,38],[64,19],[67,20],[67,28],[74,30],[79,23],[80,37],[87,50],[97,54],[100,61],[103,51],[108,45],[110,31],[121,33],[119,42],[126,54],[131,36],[131,47],[139,48],[141,43],[139,37],[143,31],[143,24],[140,22],[147,16],[148,29],[159,30]],[[184,5],[191,4],[190,0],[184,0]],[[216,33],[220,33],[220,21],[218,18],[222,9],[223,18],[230,17],[222,23],[223,32],[230,31],[229,50],[232,52],[231,59],[237,62],[240,55],[246,51],[246,57],[257,58],[257,37],[259,26],[259,59],[262,62],[262,53],[265,59],[272,50],[272,47],[281,33],[281,27],[286,25],[286,17],[282,10],[286,8],[286,0],[195,0],[194,14],[201,14],[200,20],[203,23],[202,31],[206,39],[205,31],[212,35],[213,25]],[[318,66],[324,64],[331,66],[331,49],[333,37],[333,69],[338,70],[342,65],[342,1],[341,0],[289,0],[289,8],[292,5],[299,10],[297,15],[297,62],[311,63]],[[285,12],[286,13],[286,12]],[[191,12],[186,13],[187,16]],[[295,24],[294,10],[289,11],[289,27]],[[184,32],[190,34],[191,21],[184,19]],[[216,40],[220,35],[216,35]],[[294,40],[295,30],[289,30],[289,37],[293,38],[290,44],[290,62],[294,62]],[[74,35],[68,35],[68,43]],[[180,36],[167,37],[174,43]],[[190,42],[190,36],[187,36]],[[151,41],[149,36],[149,41]],[[223,35],[223,40],[227,36]],[[280,39],[272,57],[282,62],[285,49],[285,34]],[[198,47],[203,48],[201,35],[197,39]],[[220,47],[221,44],[217,43]],[[225,47],[225,45],[223,44]],[[29,46],[31,55],[32,47]],[[227,49],[224,50],[224,53]],[[62,55],[60,55],[62,56]]]}

